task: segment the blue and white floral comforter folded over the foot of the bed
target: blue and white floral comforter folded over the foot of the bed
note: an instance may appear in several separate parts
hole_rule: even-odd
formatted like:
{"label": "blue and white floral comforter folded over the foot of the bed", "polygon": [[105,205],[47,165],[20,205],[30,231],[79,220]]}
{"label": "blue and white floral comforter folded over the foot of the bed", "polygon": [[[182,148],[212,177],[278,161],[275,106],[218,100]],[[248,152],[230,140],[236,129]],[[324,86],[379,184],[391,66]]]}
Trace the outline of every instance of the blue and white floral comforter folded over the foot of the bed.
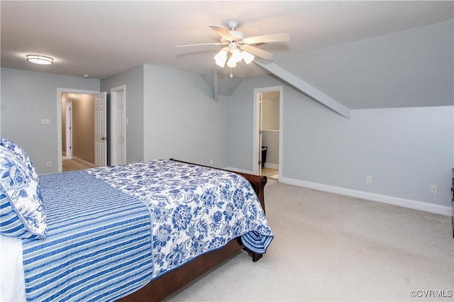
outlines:
{"label": "blue and white floral comforter folded over the foot of the bed", "polygon": [[252,186],[238,174],[170,160],[86,171],[150,208],[153,279],[235,237],[258,253],[273,238]]}

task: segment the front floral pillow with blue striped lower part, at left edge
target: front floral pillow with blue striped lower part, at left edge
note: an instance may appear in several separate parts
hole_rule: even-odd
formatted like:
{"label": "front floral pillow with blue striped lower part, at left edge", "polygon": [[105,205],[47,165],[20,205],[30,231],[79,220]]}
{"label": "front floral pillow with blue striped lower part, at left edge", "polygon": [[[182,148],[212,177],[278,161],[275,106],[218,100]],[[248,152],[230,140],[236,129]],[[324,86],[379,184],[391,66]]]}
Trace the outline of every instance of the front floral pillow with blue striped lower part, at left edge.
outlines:
{"label": "front floral pillow with blue striped lower part, at left edge", "polygon": [[48,226],[38,178],[22,158],[1,145],[0,208],[2,235],[33,239],[46,237]]}

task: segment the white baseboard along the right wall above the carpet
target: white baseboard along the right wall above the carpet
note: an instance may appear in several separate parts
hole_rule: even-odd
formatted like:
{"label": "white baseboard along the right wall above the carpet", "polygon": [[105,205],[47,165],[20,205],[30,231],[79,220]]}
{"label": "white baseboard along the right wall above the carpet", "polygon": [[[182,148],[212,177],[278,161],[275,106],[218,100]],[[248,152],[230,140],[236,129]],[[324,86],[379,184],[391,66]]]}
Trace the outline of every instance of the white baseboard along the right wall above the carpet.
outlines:
{"label": "white baseboard along the right wall above the carpet", "polygon": [[377,201],[380,203],[387,203],[392,204],[394,206],[402,206],[404,208],[412,208],[414,210],[426,211],[429,213],[436,213],[445,216],[451,216],[453,213],[453,210],[449,206],[440,206],[438,204],[427,203],[423,201],[414,201],[406,198],[375,194],[365,191],[356,191],[352,189],[341,188],[338,186],[328,186],[326,184],[317,184],[315,182],[310,181],[289,179],[287,177],[279,177],[279,181],[284,184],[292,184],[294,186],[302,186],[308,189],[316,189],[319,191],[326,191],[330,193],[361,198],[369,201]]}

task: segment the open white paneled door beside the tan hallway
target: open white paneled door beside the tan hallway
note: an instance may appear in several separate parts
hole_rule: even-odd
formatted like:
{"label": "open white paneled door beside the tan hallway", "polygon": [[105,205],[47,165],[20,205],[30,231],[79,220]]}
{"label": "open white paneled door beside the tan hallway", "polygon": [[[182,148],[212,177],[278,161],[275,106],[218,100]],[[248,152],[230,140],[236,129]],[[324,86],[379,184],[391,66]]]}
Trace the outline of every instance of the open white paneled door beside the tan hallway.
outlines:
{"label": "open white paneled door beside the tan hallway", "polygon": [[94,95],[94,164],[96,167],[107,165],[107,93]]}

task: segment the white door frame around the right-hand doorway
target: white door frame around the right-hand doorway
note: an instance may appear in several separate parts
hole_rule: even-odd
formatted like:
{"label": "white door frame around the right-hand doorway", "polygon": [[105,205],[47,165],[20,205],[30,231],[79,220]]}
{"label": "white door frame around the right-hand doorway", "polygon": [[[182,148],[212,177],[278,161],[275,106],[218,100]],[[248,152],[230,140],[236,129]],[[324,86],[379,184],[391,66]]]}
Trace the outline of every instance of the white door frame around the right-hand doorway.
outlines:
{"label": "white door frame around the right-hand doorway", "polygon": [[[260,94],[263,92],[279,91],[279,178],[282,175],[282,137],[284,133],[282,113],[284,108],[284,86],[270,86],[254,89],[254,108],[253,108],[253,173],[258,174],[261,171],[259,159],[261,157],[262,146],[260,145],[260,130],[262,130],[260,118]],[[260,146],[259,146],[260,145]]]}

